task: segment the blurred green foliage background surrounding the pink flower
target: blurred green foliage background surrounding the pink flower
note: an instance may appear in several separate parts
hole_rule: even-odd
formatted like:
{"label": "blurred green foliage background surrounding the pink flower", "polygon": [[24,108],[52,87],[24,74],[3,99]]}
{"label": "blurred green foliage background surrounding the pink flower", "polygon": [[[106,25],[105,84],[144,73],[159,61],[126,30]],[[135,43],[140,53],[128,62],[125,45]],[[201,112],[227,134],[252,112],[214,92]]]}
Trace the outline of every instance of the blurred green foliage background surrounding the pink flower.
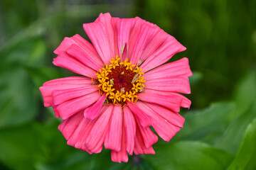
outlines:
{"label": "blurred green foliage background surrounding the pink flower", "polygon": [[[1,0],[0,169],[256,169],[255,0]],[[72,72],[52,64],[64,37],[87,38],[100,13],[139,16],[187,47],[193,72],[184,128],[155,155],[113,163],[66,145],[38,87]],[[88,39],[87,39],[88,40]]]}

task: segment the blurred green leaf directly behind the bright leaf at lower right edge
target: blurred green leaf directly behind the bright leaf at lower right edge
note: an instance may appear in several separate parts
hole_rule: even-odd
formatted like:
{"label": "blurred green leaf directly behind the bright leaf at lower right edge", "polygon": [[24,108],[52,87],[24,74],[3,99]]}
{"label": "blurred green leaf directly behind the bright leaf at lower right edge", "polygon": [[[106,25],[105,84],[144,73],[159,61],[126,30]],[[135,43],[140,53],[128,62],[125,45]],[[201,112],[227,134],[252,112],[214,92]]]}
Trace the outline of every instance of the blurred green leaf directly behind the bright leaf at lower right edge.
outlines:
{"label": "blurred green leaf directly behind the bright leaf at lower right edge", "polygon": [[250,106],[250,108],[235,118],[232,123],[228,126],[227,130],[223,133],[223,137],[220,138],[215,147],[225,149],[231,154],[236,154],[238,148],[242,143],[242,139],[245,136],[245,130],[247,125],[252,123],[252,120],[256,118],[256,102]]}

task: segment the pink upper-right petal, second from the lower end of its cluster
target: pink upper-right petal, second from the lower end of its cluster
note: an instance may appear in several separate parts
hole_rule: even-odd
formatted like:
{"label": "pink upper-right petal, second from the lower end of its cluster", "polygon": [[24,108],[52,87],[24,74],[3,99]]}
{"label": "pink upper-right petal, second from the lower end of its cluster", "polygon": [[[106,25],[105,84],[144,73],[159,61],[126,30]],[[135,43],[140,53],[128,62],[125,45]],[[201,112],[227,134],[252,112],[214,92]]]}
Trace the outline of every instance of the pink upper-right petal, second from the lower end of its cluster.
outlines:
{"label": "pink upper-right petal, second from the lower end of its cluster", "polygon": [[164,43],[166,38],[169,37],[169,34],[164,32],[161,28],[154,25],[154,35],[151,36],[150,40],[146,44],[145,50],[142,52],[142,56],[140,57],[142,62],[146,60],[153,52],[155,52],[161,45]]}

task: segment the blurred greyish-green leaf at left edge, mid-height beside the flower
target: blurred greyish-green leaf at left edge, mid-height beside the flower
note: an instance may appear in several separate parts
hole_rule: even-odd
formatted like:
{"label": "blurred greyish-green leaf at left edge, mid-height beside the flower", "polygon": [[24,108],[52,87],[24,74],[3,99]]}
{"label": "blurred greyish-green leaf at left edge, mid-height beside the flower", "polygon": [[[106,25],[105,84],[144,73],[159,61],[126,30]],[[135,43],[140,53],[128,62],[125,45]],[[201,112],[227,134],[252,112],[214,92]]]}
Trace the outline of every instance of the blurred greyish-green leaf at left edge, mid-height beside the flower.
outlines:
{"label": "blurred greyish-green leaf at left edge, mid-height beside the flower", "polygon": [[26,123],[35,117],[36,89],[25,70],[13,65],[0,75],[0,128]]}

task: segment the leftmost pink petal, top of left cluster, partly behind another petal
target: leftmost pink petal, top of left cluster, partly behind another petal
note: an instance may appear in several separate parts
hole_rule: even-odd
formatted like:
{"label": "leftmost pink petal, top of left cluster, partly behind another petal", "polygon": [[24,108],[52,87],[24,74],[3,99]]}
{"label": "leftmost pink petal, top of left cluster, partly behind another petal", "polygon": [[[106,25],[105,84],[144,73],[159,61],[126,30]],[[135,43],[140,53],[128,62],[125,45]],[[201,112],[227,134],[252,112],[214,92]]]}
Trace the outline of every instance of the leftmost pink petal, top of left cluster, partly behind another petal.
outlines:
{"label": "leftmost pink petal, top of left cluster, partly behind another petal", "polygon": [[65,77],[46,81],[39,87],[43,96],[44,106],[52,106],[52,91],[58,89],[73,89],[92,84],[92,80],[87,77]]}

